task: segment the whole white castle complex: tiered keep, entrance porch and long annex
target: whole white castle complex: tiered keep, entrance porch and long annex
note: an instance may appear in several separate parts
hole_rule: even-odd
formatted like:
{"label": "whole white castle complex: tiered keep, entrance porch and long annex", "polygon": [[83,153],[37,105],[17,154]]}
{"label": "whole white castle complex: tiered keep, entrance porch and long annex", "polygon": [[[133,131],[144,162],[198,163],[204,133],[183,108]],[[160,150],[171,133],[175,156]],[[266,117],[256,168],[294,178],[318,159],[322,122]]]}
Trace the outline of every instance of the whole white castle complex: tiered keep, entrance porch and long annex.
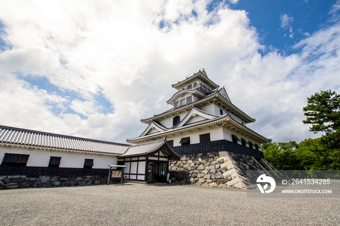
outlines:
{"label": "whole white castle complex: tiered keep, entrance porch and long annex", "polygon": [[[125,165],[125,181],[165,182],[170,161],[229,152],[263,158],[270,142],[247,127],[255,122],[229,99],[205,70],[172,85],[171,108],[142,119],[147,128],[133,145],[0,126],[0,175],[97,175]],[[169,179],[169,178],[168,178]]]}

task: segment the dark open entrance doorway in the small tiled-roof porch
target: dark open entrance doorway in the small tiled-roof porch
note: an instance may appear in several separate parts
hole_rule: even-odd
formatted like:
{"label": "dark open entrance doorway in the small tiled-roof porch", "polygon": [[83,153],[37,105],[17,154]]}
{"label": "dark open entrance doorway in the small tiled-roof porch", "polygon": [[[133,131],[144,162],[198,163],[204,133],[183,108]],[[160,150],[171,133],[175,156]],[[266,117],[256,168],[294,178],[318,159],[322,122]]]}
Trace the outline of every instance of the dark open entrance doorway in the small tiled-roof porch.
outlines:
{"label": "dark open entrance doorway in the small tiled-roof porch", "polygon": [[167,182],[168,162],[148,162],[147,183]]}

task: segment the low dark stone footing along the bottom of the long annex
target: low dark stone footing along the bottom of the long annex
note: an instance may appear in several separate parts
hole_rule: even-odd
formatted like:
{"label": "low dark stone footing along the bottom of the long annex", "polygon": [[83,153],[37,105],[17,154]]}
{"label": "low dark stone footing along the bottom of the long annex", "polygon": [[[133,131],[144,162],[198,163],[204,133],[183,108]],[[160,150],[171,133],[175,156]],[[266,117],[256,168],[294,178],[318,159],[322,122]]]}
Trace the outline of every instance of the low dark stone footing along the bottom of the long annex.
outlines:
{"label": "low dark stone footing along the bottom of the long annex", "polygon": [[[107,184],[108,176],[39,176],[28,177],[25,175],[0,176],[0,187],[7,188],[37,188],[37,187],[69,187]],[[111,184],[118,182],[111,179]],[[119,179],[120,182],[120,179]]]}

